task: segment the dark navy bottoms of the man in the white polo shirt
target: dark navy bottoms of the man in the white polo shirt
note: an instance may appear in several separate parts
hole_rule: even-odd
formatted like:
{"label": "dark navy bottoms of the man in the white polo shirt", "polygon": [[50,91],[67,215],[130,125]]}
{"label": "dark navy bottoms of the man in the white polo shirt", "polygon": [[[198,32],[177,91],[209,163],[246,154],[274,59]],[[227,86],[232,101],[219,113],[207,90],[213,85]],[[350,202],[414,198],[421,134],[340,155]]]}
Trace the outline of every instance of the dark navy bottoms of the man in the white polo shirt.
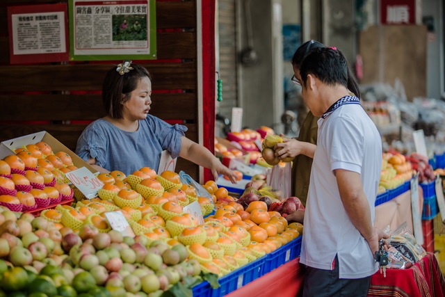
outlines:
{"label": "dark navy bottoms of the man in the white polo shirt", "polygon": [[323,270],[307,266],[303,297],[366,297],[371,276],[358,279],[339,279],[339,260],[335,257],[333,270]]}

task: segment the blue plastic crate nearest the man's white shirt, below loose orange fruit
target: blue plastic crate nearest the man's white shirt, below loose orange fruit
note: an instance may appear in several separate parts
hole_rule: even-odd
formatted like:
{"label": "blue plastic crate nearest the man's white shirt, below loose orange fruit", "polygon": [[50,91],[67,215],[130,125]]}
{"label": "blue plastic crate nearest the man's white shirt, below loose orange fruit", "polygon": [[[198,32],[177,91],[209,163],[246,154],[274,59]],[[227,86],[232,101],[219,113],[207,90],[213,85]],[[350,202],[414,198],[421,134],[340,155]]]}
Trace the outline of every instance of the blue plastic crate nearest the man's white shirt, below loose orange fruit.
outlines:
{"label": "blue plastic crate nearest the man's white shirt, below loose orange fruit", "polygon": [[281,248],[277,248],[277,250],[268,253],[266,255],[266,262],[264,262],[263,273],[269,273],[275,268],[282,266],[282,264],[285,264],[300,256],[301,239],[302,236],[300,235],[296,239],[293,239],[293,241],[286,243]]}

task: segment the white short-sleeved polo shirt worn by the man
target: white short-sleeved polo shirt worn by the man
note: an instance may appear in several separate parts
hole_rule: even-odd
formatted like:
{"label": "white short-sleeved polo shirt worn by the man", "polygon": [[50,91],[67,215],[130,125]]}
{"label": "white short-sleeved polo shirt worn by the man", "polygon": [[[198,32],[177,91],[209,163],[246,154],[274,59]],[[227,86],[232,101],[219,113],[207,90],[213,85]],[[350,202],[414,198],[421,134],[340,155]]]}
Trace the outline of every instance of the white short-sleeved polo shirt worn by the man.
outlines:
{"label": "white short-sleeved polo shirt worn by the man", "polygon": [[360,174],[374,223],[381,166],[381,136],[361,105],[345,104],[318,120],[300,262],[332,270],[338,255],[339,277],[349,279],[378,270],[368,243],[346,214],[332,170]]}

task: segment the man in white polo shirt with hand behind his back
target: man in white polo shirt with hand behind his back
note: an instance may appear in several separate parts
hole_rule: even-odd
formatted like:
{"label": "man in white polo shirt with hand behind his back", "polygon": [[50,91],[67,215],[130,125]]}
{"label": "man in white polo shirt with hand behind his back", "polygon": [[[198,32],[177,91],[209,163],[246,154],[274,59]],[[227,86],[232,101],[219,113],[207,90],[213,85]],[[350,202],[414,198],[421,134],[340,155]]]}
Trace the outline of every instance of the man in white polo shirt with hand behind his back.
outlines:
{"label": "man in white polo shirt with hand behind his back", "polygon": [[307,265],[303,295],[366,296],[384,236],[373,228],[381,137],[350,95],[341,51],[314,49],[299,74],[302,97],[320,117],[300,257]]}

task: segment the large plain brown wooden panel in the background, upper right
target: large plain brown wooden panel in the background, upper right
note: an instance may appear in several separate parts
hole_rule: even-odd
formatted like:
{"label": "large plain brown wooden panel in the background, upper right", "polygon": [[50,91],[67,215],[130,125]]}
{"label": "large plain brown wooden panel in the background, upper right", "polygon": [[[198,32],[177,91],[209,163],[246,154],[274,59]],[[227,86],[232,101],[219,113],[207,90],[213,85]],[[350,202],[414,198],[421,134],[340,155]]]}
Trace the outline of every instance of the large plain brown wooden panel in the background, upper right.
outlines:
{"label": "large plain brown wooden panel in the background, upper right", "polygon": [[[407,99],[426,97],[426,27],[417,25],[371,26],[360,33],[363,59],[360,83],[388,83],[400,79]],[[391,65],[388,67],[387,65]]]}

